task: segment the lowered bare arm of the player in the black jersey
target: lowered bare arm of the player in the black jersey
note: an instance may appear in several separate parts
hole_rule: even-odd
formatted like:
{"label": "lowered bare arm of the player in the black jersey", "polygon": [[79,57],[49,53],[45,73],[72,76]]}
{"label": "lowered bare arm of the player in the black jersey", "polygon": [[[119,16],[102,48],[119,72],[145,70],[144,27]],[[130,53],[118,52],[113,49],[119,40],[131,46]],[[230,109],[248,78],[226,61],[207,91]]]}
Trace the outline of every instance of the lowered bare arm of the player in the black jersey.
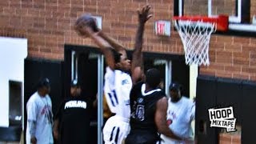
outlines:
{"label": "lowered bare arm of the player in the black jersey", "polygon": [[167,112],[167,98],[163,97],[158,100],[156,106],[156,112],[154,116],[154,121],[158,127],[158,132],[166,135],[167,137],[181,140],[178,138],[167,126],[166,122],[166,112]]}

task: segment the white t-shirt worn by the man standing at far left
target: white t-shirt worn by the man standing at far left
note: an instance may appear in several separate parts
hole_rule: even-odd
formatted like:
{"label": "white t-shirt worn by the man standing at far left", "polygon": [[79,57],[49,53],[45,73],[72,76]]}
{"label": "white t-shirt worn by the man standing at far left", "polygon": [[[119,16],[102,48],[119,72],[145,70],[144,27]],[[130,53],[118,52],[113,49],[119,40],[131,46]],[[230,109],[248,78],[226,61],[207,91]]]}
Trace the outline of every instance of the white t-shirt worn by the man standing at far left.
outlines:
{"label": "white t-shirt worn by the man standing at far left", "polygon": [[[54,143],[53,139],[53,113],[49,95],[41,97],[34,93],[26,103],[27,121],[36,122],[35,138],[38,144]],[[29,122],[26,126],[26,143],[30,143]]]}

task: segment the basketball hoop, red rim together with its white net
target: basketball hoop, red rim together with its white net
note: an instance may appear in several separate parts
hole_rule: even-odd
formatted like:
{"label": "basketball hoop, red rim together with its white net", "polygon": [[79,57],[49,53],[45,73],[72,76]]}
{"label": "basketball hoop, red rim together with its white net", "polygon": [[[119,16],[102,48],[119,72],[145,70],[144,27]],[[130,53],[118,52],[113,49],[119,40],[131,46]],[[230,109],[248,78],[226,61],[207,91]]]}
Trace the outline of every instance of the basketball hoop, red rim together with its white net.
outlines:
{"label": "basketball hoop, red rim together with its white net", "polygon": [[210,34],[216,30],[226,31],[228,17],[201,16],[174,17],[174,26],[182,39],[187,65],[209,66]]}

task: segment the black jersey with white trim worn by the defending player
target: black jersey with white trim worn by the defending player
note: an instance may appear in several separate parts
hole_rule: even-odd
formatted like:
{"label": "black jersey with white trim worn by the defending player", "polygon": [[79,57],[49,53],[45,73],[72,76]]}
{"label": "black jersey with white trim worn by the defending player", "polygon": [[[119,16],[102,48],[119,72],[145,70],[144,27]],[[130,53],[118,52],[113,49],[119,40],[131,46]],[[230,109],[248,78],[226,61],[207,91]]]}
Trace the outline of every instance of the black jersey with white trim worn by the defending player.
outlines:
{"label": "black jersey with white trim worn by the defending player", "polygon": [[154,122],[156,103],[166,94],[160,89],[151,90],[145,94],[145,91],[142,92],[142,85],[143,83],[140,82],[130,91],[131,132],[142,130],[148,134],[158,134],[158,129]]}

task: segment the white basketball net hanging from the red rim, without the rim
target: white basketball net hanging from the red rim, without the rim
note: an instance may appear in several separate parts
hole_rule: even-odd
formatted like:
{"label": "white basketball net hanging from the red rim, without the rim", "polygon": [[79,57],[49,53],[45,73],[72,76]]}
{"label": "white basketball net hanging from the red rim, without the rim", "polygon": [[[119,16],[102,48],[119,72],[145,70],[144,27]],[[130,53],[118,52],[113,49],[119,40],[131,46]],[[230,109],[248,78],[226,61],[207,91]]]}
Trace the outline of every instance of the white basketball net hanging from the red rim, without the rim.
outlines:
{"label": "white basketball net hanging from the red rim, without the rim", "polygon": [[187,65],[209,66],[210,34],[216,31],[214,23],[175,20],[174,26],[182,38]]}

